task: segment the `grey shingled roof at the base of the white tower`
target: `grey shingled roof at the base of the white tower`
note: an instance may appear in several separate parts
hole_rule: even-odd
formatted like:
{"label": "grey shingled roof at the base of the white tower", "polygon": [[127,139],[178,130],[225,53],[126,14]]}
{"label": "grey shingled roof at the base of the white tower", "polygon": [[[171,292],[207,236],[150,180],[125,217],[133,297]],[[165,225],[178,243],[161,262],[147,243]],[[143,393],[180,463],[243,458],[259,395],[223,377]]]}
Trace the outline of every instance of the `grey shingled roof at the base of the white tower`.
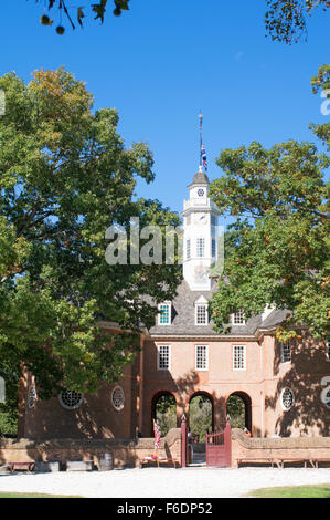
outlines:
{"label": "grey shingled roof at the base of the white tower", "polygon": [[[214,323],[211,321],[207,325],[195,325],[194,303],[200,297],[211,300],[212,293],[216,291],[216,283],[211,291],[192,291],[187,281],[180,284],[178,294],[172,301],[172,321],[170,325],[159,325],[158,322],[149,330],[151,336],[169,335],[195,335],[195,336],[219,336],[213,330]],[[231,325],[231,335],[253,335],[257,329],[272,327],[280,323],[286,318],[287,311],[273,310],[263,321],[263,316],[249,318],[245,325]]]}

